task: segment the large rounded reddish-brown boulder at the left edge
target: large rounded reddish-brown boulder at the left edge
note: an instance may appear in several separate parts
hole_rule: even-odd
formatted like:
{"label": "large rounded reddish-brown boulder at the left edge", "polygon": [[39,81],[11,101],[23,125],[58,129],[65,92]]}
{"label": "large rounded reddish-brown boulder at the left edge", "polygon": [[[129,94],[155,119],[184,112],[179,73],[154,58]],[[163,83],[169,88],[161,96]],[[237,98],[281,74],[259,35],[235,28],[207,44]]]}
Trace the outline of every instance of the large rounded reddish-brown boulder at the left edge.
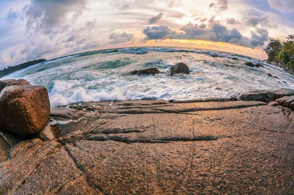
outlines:
{"label": "large rounded reddish-brown boulder at the left edge", "polygon": [[41,131],[50,117],[45,87],[5,87],[0,93],[0,108],[0,129],[21,135]]}

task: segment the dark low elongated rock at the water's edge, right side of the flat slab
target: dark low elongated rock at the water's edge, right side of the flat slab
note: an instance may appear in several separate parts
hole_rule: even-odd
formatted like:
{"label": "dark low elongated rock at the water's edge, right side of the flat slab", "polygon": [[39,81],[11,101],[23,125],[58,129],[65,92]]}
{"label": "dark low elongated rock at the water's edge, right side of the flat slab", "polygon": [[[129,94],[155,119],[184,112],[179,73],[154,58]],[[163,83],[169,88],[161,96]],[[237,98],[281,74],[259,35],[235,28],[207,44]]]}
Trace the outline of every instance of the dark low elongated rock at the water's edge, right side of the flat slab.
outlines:
{"label": "dark low elongated rock at the water's edge, right side of the flat slab", "polygon": [[275,98],[271,92],[260,91],[260,92],[245,93],[245,94],[241,95],[241,100],[270,103],[270,102],[275,101]]}

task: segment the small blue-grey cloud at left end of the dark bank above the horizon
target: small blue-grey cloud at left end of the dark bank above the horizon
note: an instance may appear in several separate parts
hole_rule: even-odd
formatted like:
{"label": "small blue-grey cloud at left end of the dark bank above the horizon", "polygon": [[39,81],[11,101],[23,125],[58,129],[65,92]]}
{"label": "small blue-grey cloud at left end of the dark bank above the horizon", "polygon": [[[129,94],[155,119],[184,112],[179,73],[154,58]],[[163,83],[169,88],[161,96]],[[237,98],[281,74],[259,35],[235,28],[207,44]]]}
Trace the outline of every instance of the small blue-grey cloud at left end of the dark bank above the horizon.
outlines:
{"label": "small blue-grey cloud at left end of the dark bank above the horizon", "polygon": [[152,40],[152,39],[164,39],[166,35],[175,34],[171,28],[165,25],[160,26],[147,26],[144,28],[143,33],[147,35],[145,40]]}

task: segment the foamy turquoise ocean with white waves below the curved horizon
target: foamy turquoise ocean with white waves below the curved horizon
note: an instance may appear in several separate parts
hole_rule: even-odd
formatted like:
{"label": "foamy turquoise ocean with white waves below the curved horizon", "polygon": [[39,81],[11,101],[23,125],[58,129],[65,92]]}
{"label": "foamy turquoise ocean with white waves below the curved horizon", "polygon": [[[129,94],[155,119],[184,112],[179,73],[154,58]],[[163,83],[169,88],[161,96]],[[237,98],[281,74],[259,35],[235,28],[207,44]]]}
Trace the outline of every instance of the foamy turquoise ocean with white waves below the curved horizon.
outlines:
{"label": "foamy turquoise ocean with white waves below the curved horizon", "polygon": [[[239,61],[232,58],[238,58]],[[189,66],[190,74],[170,77],[171,67],[179,62]],[[249,67],[245,62],[264,67]],[[161,74],[128,74],[148,67],[157,67]],[[278,79],[269,77],[268,73]],[[46,87],[51,107],[102,100],[240,97],[250,90],[294,89],[294,76],[258,59],[176,47],[91,51],[33,65],[2,79],[21,78],[32,85]]]}

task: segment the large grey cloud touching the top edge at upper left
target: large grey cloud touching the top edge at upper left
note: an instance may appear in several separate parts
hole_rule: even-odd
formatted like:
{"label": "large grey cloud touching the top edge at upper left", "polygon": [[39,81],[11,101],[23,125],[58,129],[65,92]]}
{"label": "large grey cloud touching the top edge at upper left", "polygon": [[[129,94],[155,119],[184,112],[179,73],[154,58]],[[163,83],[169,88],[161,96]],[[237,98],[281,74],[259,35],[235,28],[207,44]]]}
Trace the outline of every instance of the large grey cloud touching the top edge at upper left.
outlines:
{"label": "large grey cloud touching the top edge at upper left", "polygon": [[50,34],[54,28],[69,22],[69,14],[72,20],[76,20],[85,9],[86,0],[31,0],[24,8],[26,30]]}

